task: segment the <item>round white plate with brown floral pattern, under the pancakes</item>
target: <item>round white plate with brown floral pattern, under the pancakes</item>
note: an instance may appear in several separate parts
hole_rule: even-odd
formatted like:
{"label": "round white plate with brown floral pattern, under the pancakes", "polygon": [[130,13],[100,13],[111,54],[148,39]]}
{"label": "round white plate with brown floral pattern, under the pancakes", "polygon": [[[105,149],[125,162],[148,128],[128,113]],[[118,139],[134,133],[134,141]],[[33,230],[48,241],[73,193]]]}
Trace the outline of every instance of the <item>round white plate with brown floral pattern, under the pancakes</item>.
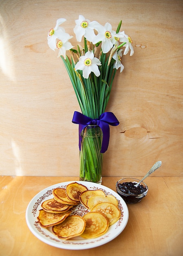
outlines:
{"label": "round white plate with brown floral pattern, under the pancakes", "polygon": [[[80,236],[77,236],[75,238],[72,238],[70,240],[62,240],[58,238],[55,234],[52,233],[51,227],[44,228],[41,227],[39,223],[37,223],[37,216],[39,215],[39,210],[41,208],[41,204],[43,201],[53,198],[52,190],[55,188],[66,188],[67,184],[75,182],[75,181],[69,181],[69,182],[62,182],[55,184],[53,186],[49,186],[46,189],[43,189],[37,195],[33,197],[31,202],[29,203],[27,209],[26,209],[26,223],[31,230],[31,232],[42,242],[52,245],[54,247],[62,248],[62,249],[71,249],[71,250],[81,250],[81,249],[89,249],[94,248],[100,245],[104,245],[108,243],[109,241],[116,238],[126,227],[126,224],[128,222],[128,207],[124,200],[112,189],[109,189],[106,186],[99,185],[93,182],[84,182],[84,181],[76,181],[79,184],[83,184],[88,189],[96,190],[100,189],[104,191],[106,195],[114,195],[115,198],[117,198],[119,203],[119,209],[121,211],[121,218],[115,222],[113,225],[111,225],[108,228],[108,231],[97,238],[92,239],[84,239]],[[79,215],[84,216],[88,212],[88,209],[86,209],[82,204],[78,204],[77,206],[74,206],[72,208],[72,215]]]}

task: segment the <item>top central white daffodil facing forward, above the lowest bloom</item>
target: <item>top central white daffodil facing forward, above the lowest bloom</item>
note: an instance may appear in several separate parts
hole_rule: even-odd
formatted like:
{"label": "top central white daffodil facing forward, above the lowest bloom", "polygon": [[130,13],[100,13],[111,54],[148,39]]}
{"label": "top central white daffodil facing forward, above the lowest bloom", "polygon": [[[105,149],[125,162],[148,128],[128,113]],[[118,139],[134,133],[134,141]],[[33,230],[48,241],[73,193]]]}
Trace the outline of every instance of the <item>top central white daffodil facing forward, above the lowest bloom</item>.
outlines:
{"label": "top central white daffodil facing forward, above the lowest bloom", "polygon": [[95,37],[94,25],[96,21],[90,22],[84,18],[84,16],[79,15],[79,19],[75,20],[74,33],[78,42],[81,42],[82,37],[84,36],[88,41],[92,42]]}

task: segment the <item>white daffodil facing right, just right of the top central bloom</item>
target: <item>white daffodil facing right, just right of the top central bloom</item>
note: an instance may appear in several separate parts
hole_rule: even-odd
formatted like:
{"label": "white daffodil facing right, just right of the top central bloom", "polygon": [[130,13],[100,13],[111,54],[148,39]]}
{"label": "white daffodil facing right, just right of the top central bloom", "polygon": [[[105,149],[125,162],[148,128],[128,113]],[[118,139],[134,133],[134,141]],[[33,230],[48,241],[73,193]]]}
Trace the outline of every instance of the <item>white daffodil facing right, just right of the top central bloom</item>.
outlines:
{"label": "white daffodil facing right, just right of the top central bloom", "polygon": [[101,41],[102,52],[109,52],[114,45],[114,43],[112,42],[112,40],[114,40],[112,26],[108,22],[105,24],[105,26],[102,26],[98,22],[95,22],[95,29],[97,30],[98,34],[95,36],[92,43],[95,45],[96,43]]}

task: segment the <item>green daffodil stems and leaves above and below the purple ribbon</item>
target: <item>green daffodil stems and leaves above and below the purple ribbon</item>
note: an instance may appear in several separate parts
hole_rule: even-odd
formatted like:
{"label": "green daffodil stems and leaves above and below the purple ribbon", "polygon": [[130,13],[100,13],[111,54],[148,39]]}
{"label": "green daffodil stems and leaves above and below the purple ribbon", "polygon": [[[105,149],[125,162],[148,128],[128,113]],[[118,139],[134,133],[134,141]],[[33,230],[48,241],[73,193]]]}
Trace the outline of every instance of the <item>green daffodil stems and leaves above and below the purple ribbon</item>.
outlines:
{"label": "green daffodil stems and leaves above and below the purple ribbon", "polygon": [[[85,41],[86,49],[88,49],[88,45]],[[110,56],[101,52],[100,76],[97,77],[94,73],[91,73],[88,79],[83,78],[82,70],[75,71],[73,55],[75,52],[71,54],[71,62],[67,56],[66,59],[61,56],[73,84],[81,111],[84,115],[92,119],[98,118],[105,112],[116,72],[113,69],[114,59],[112,59],[116,50],[117,48],[114,51],[112,50]],[[80,180],[92,182],[99,182],[101,180],[103,154],[100,150],[102,138],[102,131],[98,126],[82,131]]]}

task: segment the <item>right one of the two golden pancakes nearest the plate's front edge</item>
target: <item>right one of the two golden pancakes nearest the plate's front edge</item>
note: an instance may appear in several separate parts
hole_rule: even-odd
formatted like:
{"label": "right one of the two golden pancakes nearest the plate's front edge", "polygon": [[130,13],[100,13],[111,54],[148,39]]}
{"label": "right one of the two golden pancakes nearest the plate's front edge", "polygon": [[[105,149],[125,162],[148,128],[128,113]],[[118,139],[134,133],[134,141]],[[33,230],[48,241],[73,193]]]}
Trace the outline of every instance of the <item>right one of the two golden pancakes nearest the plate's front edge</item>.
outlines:
{"label": "right one of the two golden pancakes nearest the plate's front edge", "polygon": [[109,227],[109,221],[103,213],[89,212],[83,216],[86,221],[82,238],[96,238],[106,233]]}

